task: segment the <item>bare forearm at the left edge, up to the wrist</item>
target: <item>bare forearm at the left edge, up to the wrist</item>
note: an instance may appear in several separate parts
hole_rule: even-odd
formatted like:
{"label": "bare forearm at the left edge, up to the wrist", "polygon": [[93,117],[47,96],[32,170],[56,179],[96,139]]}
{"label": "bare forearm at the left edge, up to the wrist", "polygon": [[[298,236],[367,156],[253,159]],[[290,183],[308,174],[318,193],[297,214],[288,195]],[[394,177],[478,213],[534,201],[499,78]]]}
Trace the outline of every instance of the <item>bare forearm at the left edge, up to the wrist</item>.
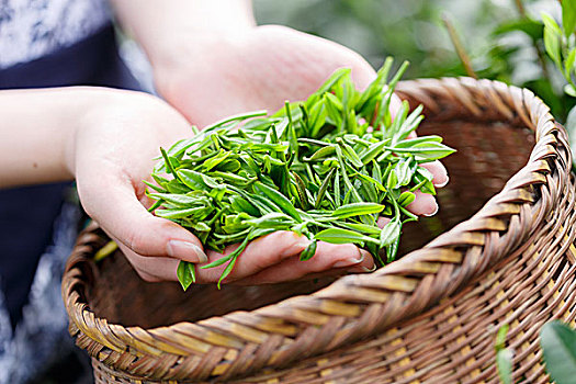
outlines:
{"label": "bare forearm at the left edge, up to the wrist", "polygon": [[92,93],[71,87],[0,91],[0,116],[14,128],[0,145],[0,188],[74,178],[71,142]]}

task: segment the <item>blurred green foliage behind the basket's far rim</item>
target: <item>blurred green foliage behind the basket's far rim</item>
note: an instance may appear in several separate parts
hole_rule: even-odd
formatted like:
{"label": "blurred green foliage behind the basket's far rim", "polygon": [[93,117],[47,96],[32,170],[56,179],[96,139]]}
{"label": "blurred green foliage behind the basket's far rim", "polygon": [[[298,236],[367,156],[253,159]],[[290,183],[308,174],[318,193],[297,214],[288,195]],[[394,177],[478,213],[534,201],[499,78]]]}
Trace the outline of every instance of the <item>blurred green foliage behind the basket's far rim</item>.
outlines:
{"label": "blurred green foliage behind the basket's far rim", "polygon": [[388,55],[407,59],[405,78],[467,75],[448,19],[477,77],[531,89],[561,122],[576,102],[543,42],[541,12],[561,22],[557,0],[255,0],[255,10],[260,23],[338,42],[376,68]]}

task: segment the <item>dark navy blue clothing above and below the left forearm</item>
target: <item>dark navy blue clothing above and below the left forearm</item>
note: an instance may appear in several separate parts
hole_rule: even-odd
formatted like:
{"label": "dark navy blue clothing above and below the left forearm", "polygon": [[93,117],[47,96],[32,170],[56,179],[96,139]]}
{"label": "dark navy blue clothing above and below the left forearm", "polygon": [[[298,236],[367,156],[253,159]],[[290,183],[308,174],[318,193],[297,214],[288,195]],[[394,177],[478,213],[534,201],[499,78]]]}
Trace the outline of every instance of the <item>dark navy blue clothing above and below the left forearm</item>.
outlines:
{"label": "dark navy blue clothing above and below the left forearm", "polygon": [[[112,25],[72,46],[0,70],[0,89],[64,86],[139,89],[117,54]],[[5,294],[12,325],[22,315],[38,258],[49,245],[54,219],[69,187],[0,190],[0,291]]]}

